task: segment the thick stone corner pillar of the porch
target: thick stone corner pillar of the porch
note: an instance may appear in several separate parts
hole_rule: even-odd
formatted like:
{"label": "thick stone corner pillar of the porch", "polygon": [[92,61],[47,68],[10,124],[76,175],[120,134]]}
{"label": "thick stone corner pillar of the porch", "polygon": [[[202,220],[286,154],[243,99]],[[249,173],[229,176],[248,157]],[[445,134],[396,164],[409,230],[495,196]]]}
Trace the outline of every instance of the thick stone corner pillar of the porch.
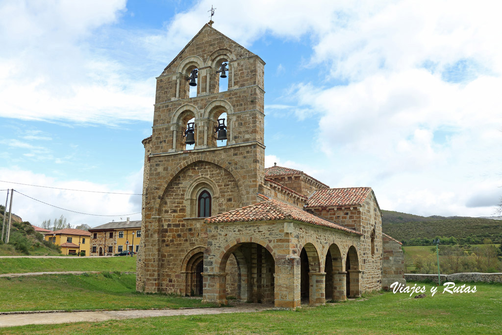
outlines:
{"label": "thick stone corner pillar of the porch", "polygon": [[301,307],[300,298],[300,257],[287,255],[276,258],[274,273],[274,301],[276,307]]}

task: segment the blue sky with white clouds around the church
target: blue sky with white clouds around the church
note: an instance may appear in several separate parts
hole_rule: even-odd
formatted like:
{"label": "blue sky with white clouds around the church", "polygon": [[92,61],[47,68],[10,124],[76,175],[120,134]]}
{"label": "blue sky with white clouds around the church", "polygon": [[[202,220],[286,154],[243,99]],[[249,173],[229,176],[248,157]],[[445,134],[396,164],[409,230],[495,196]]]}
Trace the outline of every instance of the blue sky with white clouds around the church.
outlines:
{"label": "blue sky with white clouds around the church", "polygon": [[34,225],[141,219],[155,77],[211,6],[213,28],[267,63],[266,167],[369,186],[382,209],[494,214],[493,1],[0,0],[0,203],[14,188],[13,212]]}

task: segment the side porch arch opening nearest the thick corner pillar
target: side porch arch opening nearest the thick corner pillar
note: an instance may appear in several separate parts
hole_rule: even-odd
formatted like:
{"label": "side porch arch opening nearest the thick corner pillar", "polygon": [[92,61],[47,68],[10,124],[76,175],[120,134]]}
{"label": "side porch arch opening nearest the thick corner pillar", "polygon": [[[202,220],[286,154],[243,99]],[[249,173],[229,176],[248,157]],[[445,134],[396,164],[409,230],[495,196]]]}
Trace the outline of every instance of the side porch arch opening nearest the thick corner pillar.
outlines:
{"label": "side porch arch opening nearest the thick corner pillar", "polygon": [[[320,298],[317,285],[317,280],[320,280],[318,276],[321,275],[319,270],[320,262],[317,249],[311,243],[307,243],[300,252],[300,298],[304,304],[316,304]],[[324,290],[324,287],[322,289]],[[323,294],[322,298],[324,299]]]}

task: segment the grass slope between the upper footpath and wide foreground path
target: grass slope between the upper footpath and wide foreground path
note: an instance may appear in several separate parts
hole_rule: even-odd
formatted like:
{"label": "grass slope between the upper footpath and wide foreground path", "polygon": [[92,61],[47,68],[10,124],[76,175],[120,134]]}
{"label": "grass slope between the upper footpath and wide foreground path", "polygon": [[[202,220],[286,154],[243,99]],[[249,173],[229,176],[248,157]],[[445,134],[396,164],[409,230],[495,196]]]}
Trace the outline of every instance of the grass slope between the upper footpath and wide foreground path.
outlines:
{"label": "grass slope between the upper footpath and wide foreground path", "polygon": [[0,311],[200,307],[200,299],[136,292],[134,274],[0,278]]}

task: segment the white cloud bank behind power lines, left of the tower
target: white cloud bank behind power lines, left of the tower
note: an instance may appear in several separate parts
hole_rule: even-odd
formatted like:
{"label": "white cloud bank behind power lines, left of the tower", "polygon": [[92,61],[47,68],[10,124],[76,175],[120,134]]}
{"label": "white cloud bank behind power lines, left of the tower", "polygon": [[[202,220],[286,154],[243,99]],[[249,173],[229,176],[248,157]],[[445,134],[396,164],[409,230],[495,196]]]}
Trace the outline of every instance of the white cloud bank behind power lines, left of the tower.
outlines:
{"label": "white cloud bank behind power lines, left of the tower", "polygon": [[[142,177],[142,175],[141,175]],[[137,175],[131,176],[138,179]],[[80,180],[57,180],[40,173],[24,171],[13,167],[12,169],[0,169],[0,180],[22,182],[24,184],[42,185],[60,188],[92,190],[101,192],[136,193],[137,187],[125,185],[122,188],[112,188],[107,185],[96,184]],[[140,179],[142,180],[142,179]],[[119,220],[120,216],[125,219],[125,214],[141,212],[141,195],[122,195],[77,192],[58,190],[42,187],[33,187],[0,182],[0,188],[14,188],[32,198],[50,203],[52,205],[71,209],[83,213],[117,215],[117,216],[91,216],[58,209],[47,204],[30,199],[20,193],[14,193],[13,213],[21,216],[23,220],[30,221],[35,226],[40,226],[43,220],[54,219],[63,214],[72,226],[87,224],[91,227],[105,224],[111,220]],[[139,192],[141,194],[141,190]],[[6,192],[2,192],[5,197]],[[139,198],[138,202],[136,198]],[[130,215],[132,220],[140,220],[141,213]]]}

